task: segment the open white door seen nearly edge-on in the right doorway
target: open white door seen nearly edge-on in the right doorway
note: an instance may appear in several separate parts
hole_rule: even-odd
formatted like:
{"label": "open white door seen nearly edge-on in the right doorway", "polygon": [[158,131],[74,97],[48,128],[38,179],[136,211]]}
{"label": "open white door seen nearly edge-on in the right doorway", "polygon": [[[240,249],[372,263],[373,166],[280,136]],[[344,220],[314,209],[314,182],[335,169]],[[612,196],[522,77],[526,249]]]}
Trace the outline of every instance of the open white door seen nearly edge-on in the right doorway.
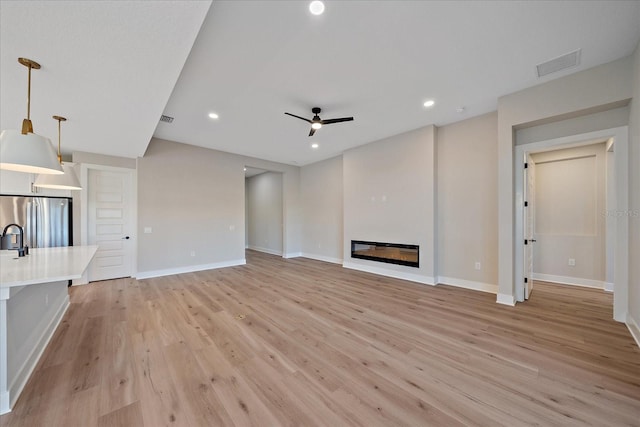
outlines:
{"label": "open white door seen nearly edge-on in the right doorway", "polygon": [[524,298],[529,299],[533,291],[533,245],[535,238],[535,178],[536,165],[529,153],[524,168]]}

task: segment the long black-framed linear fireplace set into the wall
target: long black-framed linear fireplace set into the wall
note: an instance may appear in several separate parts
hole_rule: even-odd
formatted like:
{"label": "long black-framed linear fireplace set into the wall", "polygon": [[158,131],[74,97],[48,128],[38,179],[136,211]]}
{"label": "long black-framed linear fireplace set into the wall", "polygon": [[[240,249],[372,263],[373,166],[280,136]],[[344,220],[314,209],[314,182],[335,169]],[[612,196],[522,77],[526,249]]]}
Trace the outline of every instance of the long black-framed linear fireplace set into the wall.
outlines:
{"label": "long black-framed linear fireplace set into the wall", "polygon": [[420,267],[420,246],[352,240],[351,258]]}

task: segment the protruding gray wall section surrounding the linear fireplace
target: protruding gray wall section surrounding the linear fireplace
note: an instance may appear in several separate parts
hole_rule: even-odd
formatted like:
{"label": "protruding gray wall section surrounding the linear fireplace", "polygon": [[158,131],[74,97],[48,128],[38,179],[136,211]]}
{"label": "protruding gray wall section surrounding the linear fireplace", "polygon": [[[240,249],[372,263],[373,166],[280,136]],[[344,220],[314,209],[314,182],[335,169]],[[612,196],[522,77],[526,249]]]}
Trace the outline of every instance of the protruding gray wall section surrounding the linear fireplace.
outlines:
{"label": "protruding gray wall section surrounding the linear fireplace", "polygon": [[[344,153],[345,266],[435,281],[435,138],[427,126]],[[352,259],[351,240],[419,245],[420,267]]]}

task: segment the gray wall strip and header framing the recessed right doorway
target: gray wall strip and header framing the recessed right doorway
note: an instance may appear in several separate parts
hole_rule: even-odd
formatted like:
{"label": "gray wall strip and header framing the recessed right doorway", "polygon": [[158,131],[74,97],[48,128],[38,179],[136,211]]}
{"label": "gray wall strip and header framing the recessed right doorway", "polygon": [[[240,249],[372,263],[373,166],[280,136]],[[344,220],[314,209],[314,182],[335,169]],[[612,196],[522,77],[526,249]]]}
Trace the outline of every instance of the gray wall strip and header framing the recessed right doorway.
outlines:
{"label": "gray wall strip and header framing the recessed right doorway", "polygon": [[498,302],[515,301],[515,130],[620,108],[632,96],[631,60],[623,58],[498,100]]}

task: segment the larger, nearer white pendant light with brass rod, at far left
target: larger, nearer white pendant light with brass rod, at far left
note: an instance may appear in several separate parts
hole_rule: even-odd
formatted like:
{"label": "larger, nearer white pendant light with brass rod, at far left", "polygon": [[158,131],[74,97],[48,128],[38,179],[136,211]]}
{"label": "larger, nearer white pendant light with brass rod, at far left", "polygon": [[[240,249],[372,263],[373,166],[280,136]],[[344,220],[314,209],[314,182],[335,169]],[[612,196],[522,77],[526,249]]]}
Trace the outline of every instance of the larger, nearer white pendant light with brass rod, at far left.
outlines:
{"label": "larger, nearer white pendant light with brass rod, at far left", "polygon": [[18,172],[62,174],[62,166],[49,138],[33,133],[31,123],[31,69],[40,69],[40,64],[31,59],[18,58],[18,62],[29,69],[27,86],[27,118],[22,121],[22,132],[3,130],[0,134],[0,169]]}

